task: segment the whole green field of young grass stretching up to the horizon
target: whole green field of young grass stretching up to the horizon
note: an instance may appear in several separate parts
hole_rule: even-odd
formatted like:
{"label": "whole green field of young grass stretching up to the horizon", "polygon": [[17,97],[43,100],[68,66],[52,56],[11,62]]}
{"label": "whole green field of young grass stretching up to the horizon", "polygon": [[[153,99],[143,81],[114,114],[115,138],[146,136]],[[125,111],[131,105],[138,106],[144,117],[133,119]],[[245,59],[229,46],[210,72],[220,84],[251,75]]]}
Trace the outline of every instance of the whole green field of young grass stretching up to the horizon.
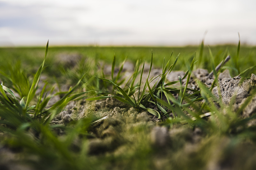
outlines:
{"label": "whole green field of young grass stretching up to the horizon", "polygon": [[[210,72],[227,55],[210,87],[190,81],[192,70]],[[255,57],[256,47],[240,43],[0,48],[0,169],[252,169],[256,116],[243,112],[255,100]],[[129,80],[118,72],[125,58],[134,64]],[[162,71],[154,86],[143,61]],[[230,105],[213,95],[214,86],[220,93],[217,75],[225,69],[231,77],[241,73],[239,87],[244,81],[247,89],[241,105],[236,95]],[[187,74],[166,82],[175,70]],[[114,99],[119,109],[96,108],[95,102]]]}

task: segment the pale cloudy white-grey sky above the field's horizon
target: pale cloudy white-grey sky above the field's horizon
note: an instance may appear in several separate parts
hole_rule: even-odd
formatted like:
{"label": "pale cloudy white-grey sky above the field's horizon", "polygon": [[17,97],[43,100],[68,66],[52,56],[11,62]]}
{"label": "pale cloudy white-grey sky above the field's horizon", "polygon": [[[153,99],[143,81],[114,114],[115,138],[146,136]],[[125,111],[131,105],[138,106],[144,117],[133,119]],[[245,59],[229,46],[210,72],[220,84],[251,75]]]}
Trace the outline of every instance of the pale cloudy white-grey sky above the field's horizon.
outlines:
{"label": "pale cloudy white-grey sky above the field's horizon", "polygon": [[256,45],[255,0],[0,0],[0,46]]}

